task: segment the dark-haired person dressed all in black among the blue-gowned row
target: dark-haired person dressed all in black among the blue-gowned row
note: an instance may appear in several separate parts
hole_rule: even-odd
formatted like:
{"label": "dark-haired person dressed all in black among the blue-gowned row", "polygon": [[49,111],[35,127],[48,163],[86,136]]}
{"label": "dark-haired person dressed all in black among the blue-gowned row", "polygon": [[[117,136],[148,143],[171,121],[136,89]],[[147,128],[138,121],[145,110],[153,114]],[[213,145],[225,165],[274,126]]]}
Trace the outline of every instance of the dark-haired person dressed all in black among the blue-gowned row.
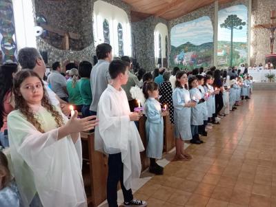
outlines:
{"label": "dark-haired person dressed all in black among the blue-gowned row", "polygon": [[224,100],[222,98],[222,92],[224,91],[223,80],[221,80],[220,71],[216,69],[214,72],[214,83],[215,90],[219,90],[219,94],[215,95],[215,121],[219,120],[217,115],[225,116],[225,114],[219,114],[219,111],[224,107]]}

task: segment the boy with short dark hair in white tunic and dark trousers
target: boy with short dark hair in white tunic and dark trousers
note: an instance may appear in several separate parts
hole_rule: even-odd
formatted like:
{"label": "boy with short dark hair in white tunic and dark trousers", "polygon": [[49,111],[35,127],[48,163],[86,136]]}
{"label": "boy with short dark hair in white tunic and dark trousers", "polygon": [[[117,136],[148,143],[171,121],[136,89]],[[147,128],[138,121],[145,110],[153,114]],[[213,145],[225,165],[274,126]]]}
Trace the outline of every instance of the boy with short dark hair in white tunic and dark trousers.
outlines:
{"label": "boy with short dark hair in white tunic and dark trousers", "polygon": [[133,199],[131,182],[141,173],[140,151],[143,143],[135,122],[142,113],[131,113],[126,92],[121,88],[128,82],[128,63],[120,60],[109,65],[112,83],[101,94],[95,129],[95,150],[107,153],[108,181],[107,199],[109,207],[117,207],[117,184],[121,182],[124,206],[146,206],[146,201]]}

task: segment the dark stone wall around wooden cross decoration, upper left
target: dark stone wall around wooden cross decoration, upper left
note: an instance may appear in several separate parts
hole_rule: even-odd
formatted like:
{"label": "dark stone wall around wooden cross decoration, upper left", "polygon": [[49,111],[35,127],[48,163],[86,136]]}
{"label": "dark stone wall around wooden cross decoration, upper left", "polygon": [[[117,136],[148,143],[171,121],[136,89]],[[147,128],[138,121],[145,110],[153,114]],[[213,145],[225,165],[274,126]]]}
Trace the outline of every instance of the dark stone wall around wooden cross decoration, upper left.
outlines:
{"label": "dark stone wall around wooden cross decoration, upper left", "polygon": [[[49,25],[56,25],[59,29],[81,34],[81,41],[77,42],[70,40],[70,45],[72,45],[73,48],[68,51],[55,47],[55,40],[49,42],[41,37],[37,38],[38,49],[48,52],[48,65],[52,65],[55,61],[64,61],[67,59],[70,61],[92,61],[92,57],[95,55],[95,45],[92,33],[93,6],[95,1],[96,0],[34,1],[36,14],[43,14]],[[130,6],[126,3],[121,0],[105,1],[126,11],[128,19],[130,19]],[[60,39],[58,42],[57,44],[61,44]]]}

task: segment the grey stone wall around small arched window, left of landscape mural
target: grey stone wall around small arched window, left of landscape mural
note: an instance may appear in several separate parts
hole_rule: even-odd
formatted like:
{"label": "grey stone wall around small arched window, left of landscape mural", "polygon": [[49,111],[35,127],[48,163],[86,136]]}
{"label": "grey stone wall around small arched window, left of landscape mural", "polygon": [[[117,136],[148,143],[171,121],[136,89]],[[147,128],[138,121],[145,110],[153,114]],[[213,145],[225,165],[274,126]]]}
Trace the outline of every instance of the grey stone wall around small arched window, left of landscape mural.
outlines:
{"label": "grey stone wall around small arched window, left of landscape mural", "polygon": [[153,16],[131,24],[132,39],[135,36],[135,44],[132,41],[132,53],[136,52],[137,62],[146,71],[153,71],[155,68],[154,33],[158,23],[164,23],[168,26],[168,21]]}

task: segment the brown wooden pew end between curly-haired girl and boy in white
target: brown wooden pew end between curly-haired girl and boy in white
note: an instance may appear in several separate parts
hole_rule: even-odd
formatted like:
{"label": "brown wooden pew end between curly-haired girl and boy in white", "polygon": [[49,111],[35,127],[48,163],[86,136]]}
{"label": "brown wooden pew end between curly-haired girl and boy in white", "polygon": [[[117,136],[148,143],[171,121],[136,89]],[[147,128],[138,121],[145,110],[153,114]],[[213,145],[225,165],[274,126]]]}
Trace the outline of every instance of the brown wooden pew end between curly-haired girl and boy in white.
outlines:
{"label": "brown wooden pew end between curly-haired girl and boy in white", "polygon": [[94,133],[81,133],[83,148],[83,182],[86,187],[88,206],[99,206],[106,199],[108,159],[95,151]]}

